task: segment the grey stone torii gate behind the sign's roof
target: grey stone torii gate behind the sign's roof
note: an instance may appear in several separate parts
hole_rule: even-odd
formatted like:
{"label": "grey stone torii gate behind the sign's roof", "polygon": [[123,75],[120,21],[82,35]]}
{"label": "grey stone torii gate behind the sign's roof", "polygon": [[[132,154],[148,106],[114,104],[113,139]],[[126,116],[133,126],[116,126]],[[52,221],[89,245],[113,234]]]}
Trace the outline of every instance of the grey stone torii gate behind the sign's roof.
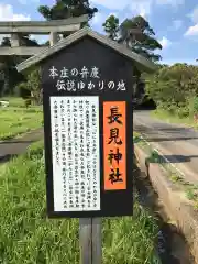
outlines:
{"label": "grey stone torii gate behind the sign's roof", "polygon": [[52,21],[9,21],[0,22],[0,34],[11,34],[11,47],[0,47],[2,55],[22,55],[32,56],[46,50],[45,46],[21,46],[21,36],[24,34],[48,35],[51,46],[59,41],[59,34],[74,33],[81,28],[81,24],[88,21],[88,15],[69,18],[66,20]]}

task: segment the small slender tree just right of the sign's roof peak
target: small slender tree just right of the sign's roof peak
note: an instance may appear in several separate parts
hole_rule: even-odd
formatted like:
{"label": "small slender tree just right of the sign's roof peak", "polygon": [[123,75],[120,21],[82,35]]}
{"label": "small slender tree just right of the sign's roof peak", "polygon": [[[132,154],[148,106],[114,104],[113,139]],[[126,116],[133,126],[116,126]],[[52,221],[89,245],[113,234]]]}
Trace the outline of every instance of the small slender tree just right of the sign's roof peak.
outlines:
{"label": "small slender tree just right of the sign's roof peak", "polygon": [[117,40],[119,32],[119,19],[117,16],[110,15],[102,26],[111,40]]}

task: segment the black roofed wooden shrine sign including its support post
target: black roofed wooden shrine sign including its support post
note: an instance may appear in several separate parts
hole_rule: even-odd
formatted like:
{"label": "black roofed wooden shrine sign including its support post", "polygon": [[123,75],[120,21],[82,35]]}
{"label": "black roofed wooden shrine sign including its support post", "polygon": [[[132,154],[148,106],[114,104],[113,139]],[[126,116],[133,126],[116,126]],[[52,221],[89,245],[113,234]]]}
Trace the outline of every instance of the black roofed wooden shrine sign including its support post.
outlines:
{"label": "black roofed wooden shrine sign including its support post", "polygon": [[82,264],[101,263],[101,218],[133,213],[134,67],[145,58],[82,29],[41,63],[47,213],[79,218]]}

